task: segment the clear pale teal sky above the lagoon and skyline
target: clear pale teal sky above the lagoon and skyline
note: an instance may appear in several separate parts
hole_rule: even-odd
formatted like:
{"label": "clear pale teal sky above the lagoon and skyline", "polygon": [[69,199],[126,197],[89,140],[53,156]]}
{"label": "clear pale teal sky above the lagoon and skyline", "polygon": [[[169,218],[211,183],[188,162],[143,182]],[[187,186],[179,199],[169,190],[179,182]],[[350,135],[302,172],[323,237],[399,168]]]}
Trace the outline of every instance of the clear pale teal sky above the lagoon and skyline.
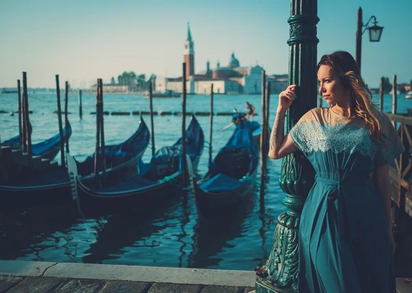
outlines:
{"label": "clear pale teal sky above the lagoon and skyline", "polygon": [[[411,0],[318,0],[318,60],[345,50],[355,55],[358,8],[363,23],[376,16],[380,42],[363,34],[362,74],[369,87],[380,77],[412,79]],[[55,75],[87,88],[124,71],[179,77],[190,22],[195,71],[259,64],[266,74],[288,73],[289,0],[0,0],[0,88],[55,88]]]}

